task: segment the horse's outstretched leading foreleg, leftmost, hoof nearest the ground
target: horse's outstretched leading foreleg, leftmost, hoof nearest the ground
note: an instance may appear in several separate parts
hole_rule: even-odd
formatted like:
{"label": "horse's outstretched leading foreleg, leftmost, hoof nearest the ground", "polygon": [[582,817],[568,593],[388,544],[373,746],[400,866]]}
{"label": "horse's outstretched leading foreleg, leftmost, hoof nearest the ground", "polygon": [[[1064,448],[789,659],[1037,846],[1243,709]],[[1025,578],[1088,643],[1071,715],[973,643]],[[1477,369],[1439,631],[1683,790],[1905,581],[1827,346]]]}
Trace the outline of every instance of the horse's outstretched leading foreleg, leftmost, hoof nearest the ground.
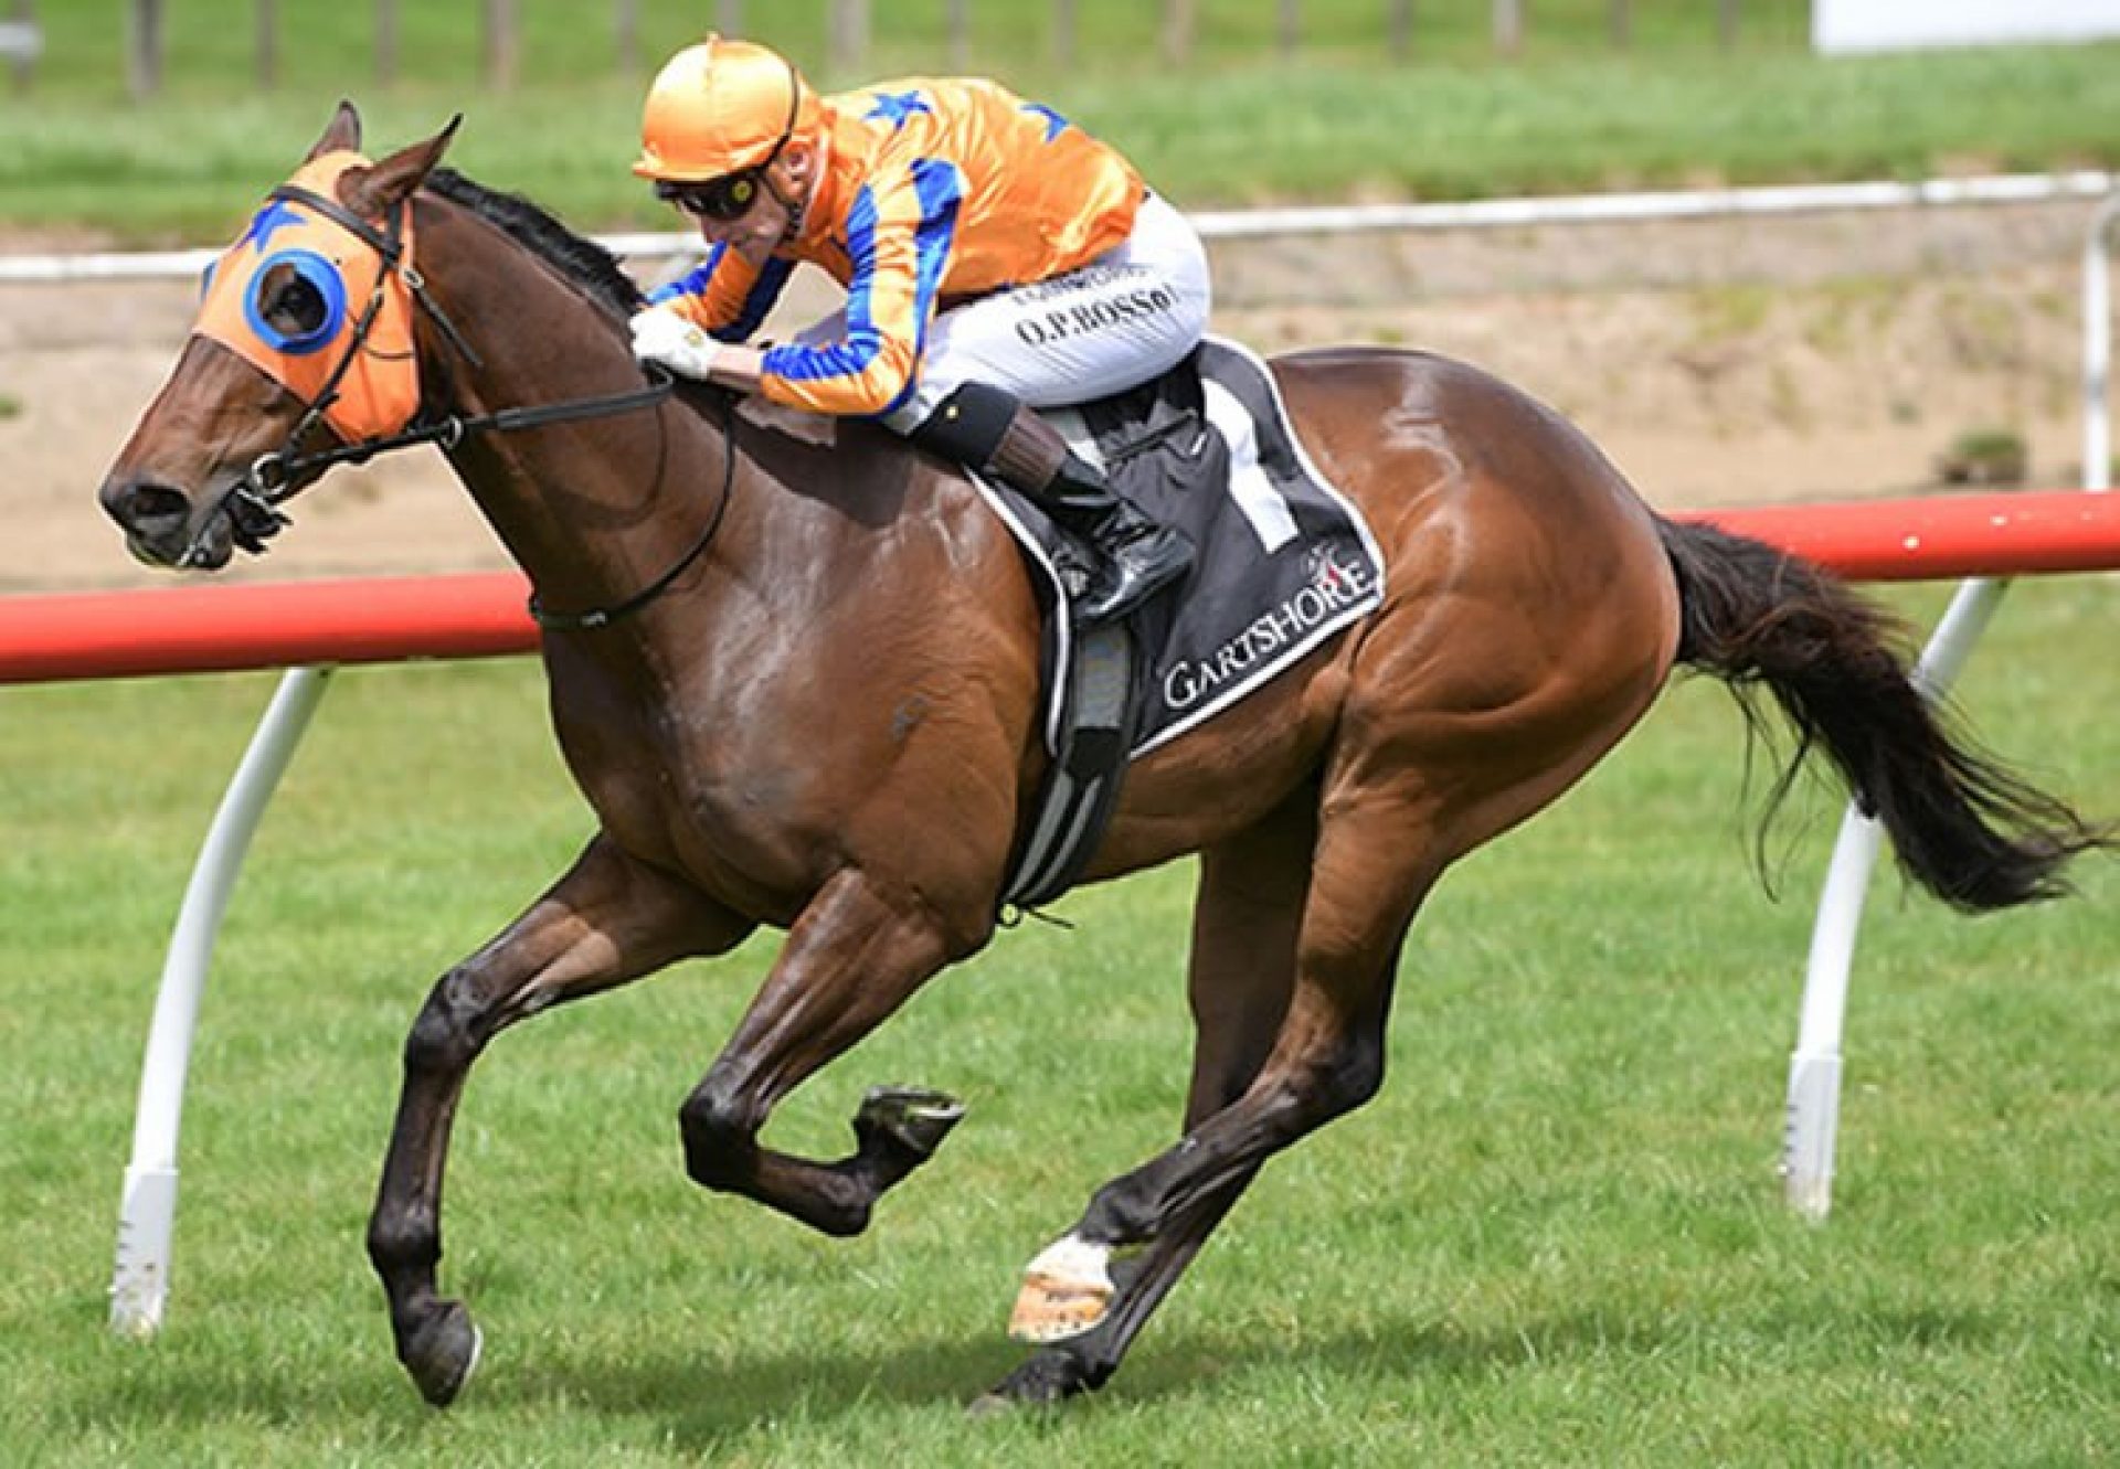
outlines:
{"label": "horse's outstretched leading foreleg, leftmost, hoof nearest the ground", "polygon": [[473,1060],[517,1020],[676,958],[721,954],[750,926],[598,837],[536,905],[435,984],[405,1039],[405,1085],[369,1217],[399,1361],[426,1401],[449,1403],[479,1355],[471,1312],[435,1282],[449,1123]]}

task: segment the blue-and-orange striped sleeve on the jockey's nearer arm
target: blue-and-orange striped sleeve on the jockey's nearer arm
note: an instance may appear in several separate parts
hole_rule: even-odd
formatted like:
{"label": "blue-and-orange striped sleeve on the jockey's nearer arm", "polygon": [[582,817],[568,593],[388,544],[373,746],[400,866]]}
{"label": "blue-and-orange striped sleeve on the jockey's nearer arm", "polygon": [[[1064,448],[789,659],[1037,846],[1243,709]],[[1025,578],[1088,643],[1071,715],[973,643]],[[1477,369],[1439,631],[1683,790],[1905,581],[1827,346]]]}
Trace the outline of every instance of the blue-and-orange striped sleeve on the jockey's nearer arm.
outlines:
{"label": "blue-and-orange striped sleeve on the jockey's nearer arm", "polygon": [[878,415],[912,394],[962,197],[962,176],[941,159],[920,159],[854,197],[846,337],[770,350],[761,375],[767,399],[816,413]]}

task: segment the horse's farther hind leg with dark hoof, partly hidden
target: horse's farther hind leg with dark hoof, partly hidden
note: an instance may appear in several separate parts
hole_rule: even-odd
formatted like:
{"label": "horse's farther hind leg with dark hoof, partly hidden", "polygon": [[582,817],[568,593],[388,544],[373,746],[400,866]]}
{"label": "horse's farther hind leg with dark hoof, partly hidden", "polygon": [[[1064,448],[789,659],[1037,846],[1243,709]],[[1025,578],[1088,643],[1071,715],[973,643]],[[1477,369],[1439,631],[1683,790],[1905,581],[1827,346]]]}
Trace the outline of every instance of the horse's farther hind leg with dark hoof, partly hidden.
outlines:
{"label": "horse's farther hind leg with dark hoof, partly hidden", "polygon": [[[1295,988],[1295,937],[1314,842],[1317,791],[1306,786],[1259,827],[1200,856],[1187,971],[1194,1015],[1187,1132],[1242,1096],[1274,1047]],[[1039,1348],[975,1408],[1054,1403],[1102,1386],[1253,1176],[1257,1168],[1200,1200],[1141,1255],[1117,1261],[1102,1321]]]}

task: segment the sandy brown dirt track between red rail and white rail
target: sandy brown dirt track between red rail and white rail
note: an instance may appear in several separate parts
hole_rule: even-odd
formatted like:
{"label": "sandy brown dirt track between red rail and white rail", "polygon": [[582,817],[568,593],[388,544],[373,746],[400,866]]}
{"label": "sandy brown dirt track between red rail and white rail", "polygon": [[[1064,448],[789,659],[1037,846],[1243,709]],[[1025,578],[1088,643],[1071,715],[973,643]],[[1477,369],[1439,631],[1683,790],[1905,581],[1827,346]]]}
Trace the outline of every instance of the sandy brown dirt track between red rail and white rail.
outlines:
{"label": "sandy brown dirt track between red rail and white rail", "polygon": [[[1217,329],[1420,346],[1573,415],[1664,507],[1906,492],[1965,430],[2078,479],[2090,208],[1287,240],[1217,250]],[[4,242],[0,242],[4,244]],[[0,591],[151,585],[95,483],[176,356],[184,284],[0,286]],[[820,297],[795,301],[795,314]],[[339,471],[244,577],[500,566],[439,458]]]}

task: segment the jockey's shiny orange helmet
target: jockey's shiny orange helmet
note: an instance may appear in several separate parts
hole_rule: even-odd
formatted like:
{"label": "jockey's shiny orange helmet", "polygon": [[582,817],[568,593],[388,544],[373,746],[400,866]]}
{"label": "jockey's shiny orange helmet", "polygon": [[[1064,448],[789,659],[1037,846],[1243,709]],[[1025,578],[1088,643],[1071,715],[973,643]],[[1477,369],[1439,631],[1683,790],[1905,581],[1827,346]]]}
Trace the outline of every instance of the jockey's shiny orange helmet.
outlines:
{"label": "jockey's shiny orange helmet", "polygon": [[740,174],[816,123],[816,93],[793,61],[748,40],[708,36],[655,74],[634,172],[681,184]]}

